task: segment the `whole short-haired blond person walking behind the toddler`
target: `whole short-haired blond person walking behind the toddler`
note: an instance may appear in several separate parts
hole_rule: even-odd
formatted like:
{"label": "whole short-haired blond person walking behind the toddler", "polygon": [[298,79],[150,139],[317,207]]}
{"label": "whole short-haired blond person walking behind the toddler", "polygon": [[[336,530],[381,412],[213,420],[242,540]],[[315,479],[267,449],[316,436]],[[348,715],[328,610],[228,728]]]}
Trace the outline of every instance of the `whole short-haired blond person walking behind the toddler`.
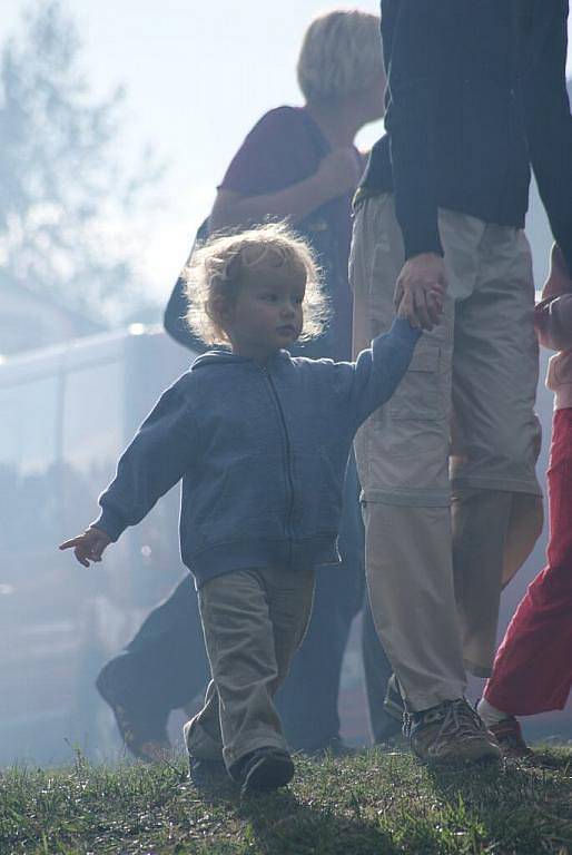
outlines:
{"label": "whole short-haired blond person walking behind the toddler", "polygon": [[[349,360],[351,204],[364,165],[354,138],[383,112],[379,19],[355,10],[334,10],[316,18],[303,40],[297,75],[304,105],[272,109],[256,122],[223,178],[197,245],[209,232],[287,217],[317,255],[332,309],[323,334],[298,352]],[[165,325],[178,342],[200,352],[201,341],[184,321],[185,288],[181,277]],[[349,627],[364,599],[358,491],[352,461],[339,537],[342,564],[318,569],[312,622],[277,697],[288,741],[312,753],[345,750],[337,708],[341,670]],[[366,688],[374,738],[381,741],[397,728],[375,700],[383,698],[389,669],[371,616],[365,617]],[[196,651],[193,662],[180,668],[177,650],[191,647]],[[190,708],[207,679],[206,667],[196,597],[185,578],[98,677],[99,691],[131,751],[149,759],[168,748],[167,716],[171,709]]]}

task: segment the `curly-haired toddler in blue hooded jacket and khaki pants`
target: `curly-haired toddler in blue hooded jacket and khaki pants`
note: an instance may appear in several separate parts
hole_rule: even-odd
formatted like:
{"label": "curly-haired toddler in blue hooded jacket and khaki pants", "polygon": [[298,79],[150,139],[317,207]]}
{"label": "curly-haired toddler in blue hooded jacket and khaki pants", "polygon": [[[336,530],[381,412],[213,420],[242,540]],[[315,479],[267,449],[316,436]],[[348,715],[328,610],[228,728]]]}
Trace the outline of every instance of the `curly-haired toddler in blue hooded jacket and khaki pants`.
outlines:
{"label": "curly-haired toddler in blue hooded jacket and khaki pants", "polygon": [[315,568],[338,560],[352,441],[421,333],[402,301],[355,363],[290,357],[285,348],[320,332],[326,306],[310,249],[284,225],[213,237],[187,278],[193,330],[229,350],[199,356],[162,394],[99,518],[60,549],[85,567],[100,561],[183,479],[180,549],[213,675],[185,728],[191,777],[213,782],[226,766],[245,792],[270,790],[294,773],[273,697],[304,636]]}

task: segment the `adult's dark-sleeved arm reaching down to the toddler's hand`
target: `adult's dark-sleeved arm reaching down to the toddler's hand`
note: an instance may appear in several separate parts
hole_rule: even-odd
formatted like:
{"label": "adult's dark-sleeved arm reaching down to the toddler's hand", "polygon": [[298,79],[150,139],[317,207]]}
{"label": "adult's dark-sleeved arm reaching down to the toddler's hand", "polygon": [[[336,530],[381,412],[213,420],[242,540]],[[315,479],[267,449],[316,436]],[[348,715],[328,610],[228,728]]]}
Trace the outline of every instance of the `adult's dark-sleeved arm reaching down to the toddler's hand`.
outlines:
{"label": "adult's dark-sleeved arm reaching down to the toddler's hand", "polygon": [[389,89],[385,125],[406,259],[426,253],[443,255],[437,224],[435,124],[440,21],[446,6],[446,0],[382,0]]}

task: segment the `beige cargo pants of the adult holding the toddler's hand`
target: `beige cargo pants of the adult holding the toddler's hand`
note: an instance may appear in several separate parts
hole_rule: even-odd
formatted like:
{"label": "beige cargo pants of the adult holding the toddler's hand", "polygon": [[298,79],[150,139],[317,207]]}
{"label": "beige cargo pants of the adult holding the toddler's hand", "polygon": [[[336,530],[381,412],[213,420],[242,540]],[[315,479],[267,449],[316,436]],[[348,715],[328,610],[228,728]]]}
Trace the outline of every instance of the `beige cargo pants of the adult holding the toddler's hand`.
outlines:
{"label": "beige cargo pants of the adult holding the toddler's hand", "polygon": [[[451,210],[440,232],[444,317],[355,444],[372,611],[413,710],[462,696],[465,667],[490,672],[509,527],[541,493],[526,238]],[[403,263],[393,197],[364,200],[349,262],[356,352],[391,326]]]}

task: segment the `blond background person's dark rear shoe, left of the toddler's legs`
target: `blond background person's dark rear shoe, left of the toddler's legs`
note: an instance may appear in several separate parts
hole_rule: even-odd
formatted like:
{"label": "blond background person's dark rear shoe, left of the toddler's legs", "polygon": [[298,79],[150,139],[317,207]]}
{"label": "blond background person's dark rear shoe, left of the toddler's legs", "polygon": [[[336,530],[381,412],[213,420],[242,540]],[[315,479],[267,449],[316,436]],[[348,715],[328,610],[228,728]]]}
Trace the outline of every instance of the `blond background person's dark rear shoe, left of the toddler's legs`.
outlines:
{"label": "blond background person's dark rear shoe, left of the toddler's legs", "polygon": [[117,727],[127,749],[145,763],[161,763],[171,756],[171,747],[165,727],[154,727],[140,710],[129,705],[121,691],[121,657],[103,666],[96,686],[103,700],[111,707]]}

